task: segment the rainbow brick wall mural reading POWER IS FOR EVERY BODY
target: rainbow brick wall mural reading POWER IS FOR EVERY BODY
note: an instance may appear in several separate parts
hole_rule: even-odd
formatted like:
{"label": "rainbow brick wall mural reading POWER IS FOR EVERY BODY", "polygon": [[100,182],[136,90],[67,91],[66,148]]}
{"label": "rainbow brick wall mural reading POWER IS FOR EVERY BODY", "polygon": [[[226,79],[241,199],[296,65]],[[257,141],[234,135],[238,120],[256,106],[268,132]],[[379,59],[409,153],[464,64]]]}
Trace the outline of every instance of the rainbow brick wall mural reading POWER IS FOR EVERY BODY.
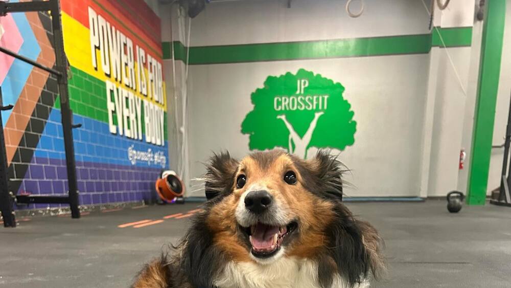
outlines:
{"label": "rainbow brick wall mural reading POWER IS FOR EVERY BODY", "polygon": [[[61,0],[61,7],[69,104],[82,123],[73,131],[80,204],[148,201],[169,165],[160,19],[138,0]],[[49,67],[51,31],[48,13],[0,17],[0,45]],[[2,54],[0,86],[4,105],[14,105],[2,112],[10,190],[66,193],[56,79]]]}

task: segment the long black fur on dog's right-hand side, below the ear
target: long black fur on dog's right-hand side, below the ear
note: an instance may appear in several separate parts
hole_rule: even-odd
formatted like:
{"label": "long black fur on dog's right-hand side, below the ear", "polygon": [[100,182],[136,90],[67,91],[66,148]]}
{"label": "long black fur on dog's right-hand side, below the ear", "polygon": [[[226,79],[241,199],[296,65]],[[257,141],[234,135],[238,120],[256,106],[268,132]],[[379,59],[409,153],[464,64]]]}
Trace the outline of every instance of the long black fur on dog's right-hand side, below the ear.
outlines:
{"label": "long black fur on dog's right-hand side, below the ear", "polygon": [[[383,240],[378,231],[367,222],[355,219],[341,203],[338,203],[334,210],[335,218],[324,232],[329,242],[328,251],[318,261],[321,285],[330,287],[333,271],[337,271],[349,287],[364,282],[369,272],[375,279],[383,276]],[[333,259],[333,263],[324,260],[325,258]],[[331,272],[327,273],[329,271]]]}

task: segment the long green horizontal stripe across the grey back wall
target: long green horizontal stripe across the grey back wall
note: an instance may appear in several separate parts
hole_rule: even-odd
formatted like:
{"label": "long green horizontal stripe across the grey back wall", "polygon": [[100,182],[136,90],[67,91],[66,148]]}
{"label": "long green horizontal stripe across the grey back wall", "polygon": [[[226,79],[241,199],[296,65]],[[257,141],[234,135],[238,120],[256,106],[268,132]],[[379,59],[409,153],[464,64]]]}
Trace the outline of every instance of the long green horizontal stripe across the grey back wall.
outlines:
{"label": "long green horizontal stripe across the grey back wall", "polygon": [[[431,34],[190,47],[189,61],[192,65],[200,65],[423,54],[428,53],[432,46],[443,46],[438,34],[444,39],[446,47],[471,45],[471,27],[435,28]],[[169,42],[164,43],[163,46],[164,49],[171,49]],[[186,47],[179,41],[174,41],[173,47],[174,58],[185,61]],[[164,56],[172,58],[172,51],[164,50]]]}

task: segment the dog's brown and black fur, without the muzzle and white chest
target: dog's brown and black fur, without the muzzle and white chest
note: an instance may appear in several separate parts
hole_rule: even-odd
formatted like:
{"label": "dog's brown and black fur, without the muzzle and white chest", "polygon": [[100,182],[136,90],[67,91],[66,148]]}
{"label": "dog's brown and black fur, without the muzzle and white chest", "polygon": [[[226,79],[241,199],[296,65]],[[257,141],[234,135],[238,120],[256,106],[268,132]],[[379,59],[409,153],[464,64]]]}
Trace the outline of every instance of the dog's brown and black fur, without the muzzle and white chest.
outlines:
{"label": "dog's brown and black fur, without the muzzle and white chest", "polygon": [[[283,175],[289,170],[296,173],[298,181],[294,185],[283,181]],[[286,256],[317,259],[319,277],[323,277],[321,285],[329,287],[329,273],[339,273],[352,284],[367,276],[368,270],[375,278],[379,277],[385,271],[383,240],[373,226],[356,220],[341,204],[343,171],[335,158],[322,151],[316,158],[307,161],[282,150],[252,153],[241,162],[230,158],[228,153],[215,155],[205,177],[206,194],[213,196],[178,248],[179,254],[172,261],[162,257],[148,264],[133,287],[210,285],[212,279],[195,279],[200,277],[200,274],[193,274],[195,270],[206,271],[205,274],[210,275],[208,277],[215,277],[227,261],[255,262],[250,257],[246,240],[240,236],[235,216],[241,195],[254,183],[267,188],[286,217],[298,219],[297,235],[287,247]],[[246,175],[247,181],[238,189],[236,179],[240,174]],[[208,233],[209,236],[204,239],[198,237],[201,245],[206,247],[190,247],[192,244],[189,242],[197,240],[198,235],[194,233]],[[360,243],[360,248],[355,247],[357,243]],[[342,255],[341,250],[350,249],[351,245],[354,245],[354,250],[346,254],[358,255],[357,258]],[[202,257],[214,262],[211,267],[196,262]],[[339,261],[347,263],[340,264]],[[351,263],[359,270],[352,270],[354,272],[350,274],[341,271],[342,267]],[[208,268],[215,271],[208,271]],[[323,270],[327,271],[326,274]]]}

